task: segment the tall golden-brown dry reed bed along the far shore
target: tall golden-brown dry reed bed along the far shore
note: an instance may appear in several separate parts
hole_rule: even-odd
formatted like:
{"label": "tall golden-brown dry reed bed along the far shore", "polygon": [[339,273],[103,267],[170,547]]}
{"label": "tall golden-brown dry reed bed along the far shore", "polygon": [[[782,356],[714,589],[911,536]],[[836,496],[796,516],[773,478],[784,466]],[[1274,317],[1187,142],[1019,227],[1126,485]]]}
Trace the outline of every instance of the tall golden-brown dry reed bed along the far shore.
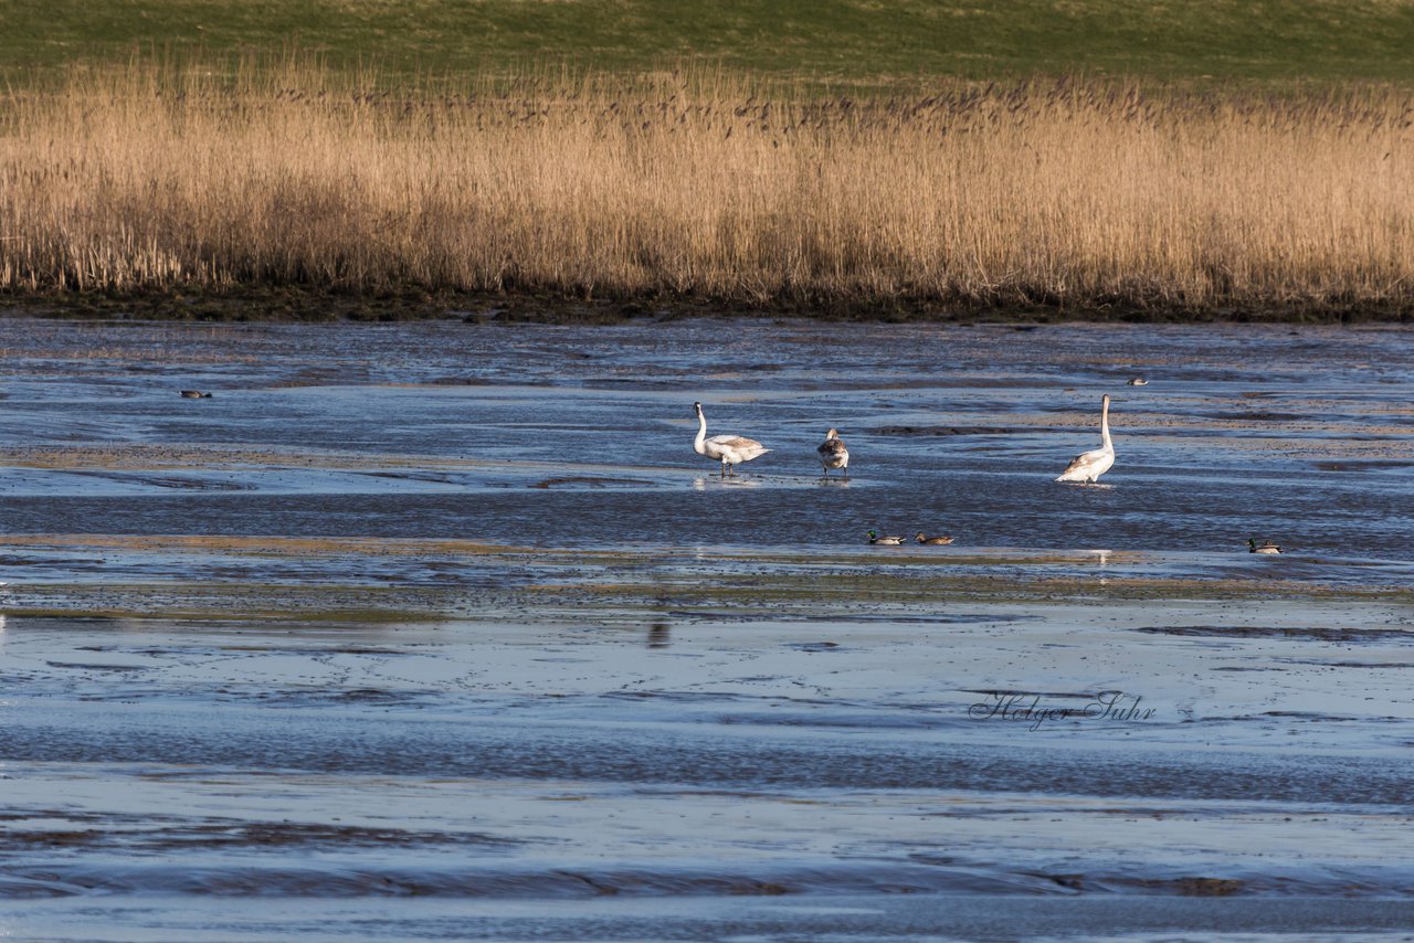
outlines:
{"label": "tall golden-brown dry reed bed along the far shore", "polygon": [[0,100],[0,288],[747,304],[1414,300],[1414,100],[134,65]]}

